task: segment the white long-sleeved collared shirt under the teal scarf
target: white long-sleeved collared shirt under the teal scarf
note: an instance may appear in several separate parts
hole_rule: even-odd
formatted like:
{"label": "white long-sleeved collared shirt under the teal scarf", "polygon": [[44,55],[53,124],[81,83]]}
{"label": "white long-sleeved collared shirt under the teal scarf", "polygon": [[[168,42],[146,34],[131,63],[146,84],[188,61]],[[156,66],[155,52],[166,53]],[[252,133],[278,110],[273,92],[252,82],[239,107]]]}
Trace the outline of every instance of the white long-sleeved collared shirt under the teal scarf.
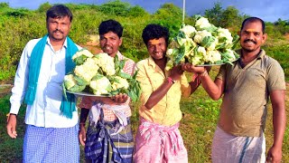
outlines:
{"label": "white long-sleeved collared shirt under the teal scarf", "polygon": [[[17,114],[25,97],[28,86],[28,74],[31,53],[40,39],[33,39],[23,49],[23,53],[14,78],[14,87],[10,98],[10,113]],[[80,49],[80,47],[78,46]],[[73,112],[72,119],[61,115],[62,87],[65,75],[65,53],[67,41],[58,52],[54,52],[47,39],[42,56],[42,66],[39,73],[35,100],[27,105],[25,123],[45,128],[69,128],[77,124],[78,111]]]}

